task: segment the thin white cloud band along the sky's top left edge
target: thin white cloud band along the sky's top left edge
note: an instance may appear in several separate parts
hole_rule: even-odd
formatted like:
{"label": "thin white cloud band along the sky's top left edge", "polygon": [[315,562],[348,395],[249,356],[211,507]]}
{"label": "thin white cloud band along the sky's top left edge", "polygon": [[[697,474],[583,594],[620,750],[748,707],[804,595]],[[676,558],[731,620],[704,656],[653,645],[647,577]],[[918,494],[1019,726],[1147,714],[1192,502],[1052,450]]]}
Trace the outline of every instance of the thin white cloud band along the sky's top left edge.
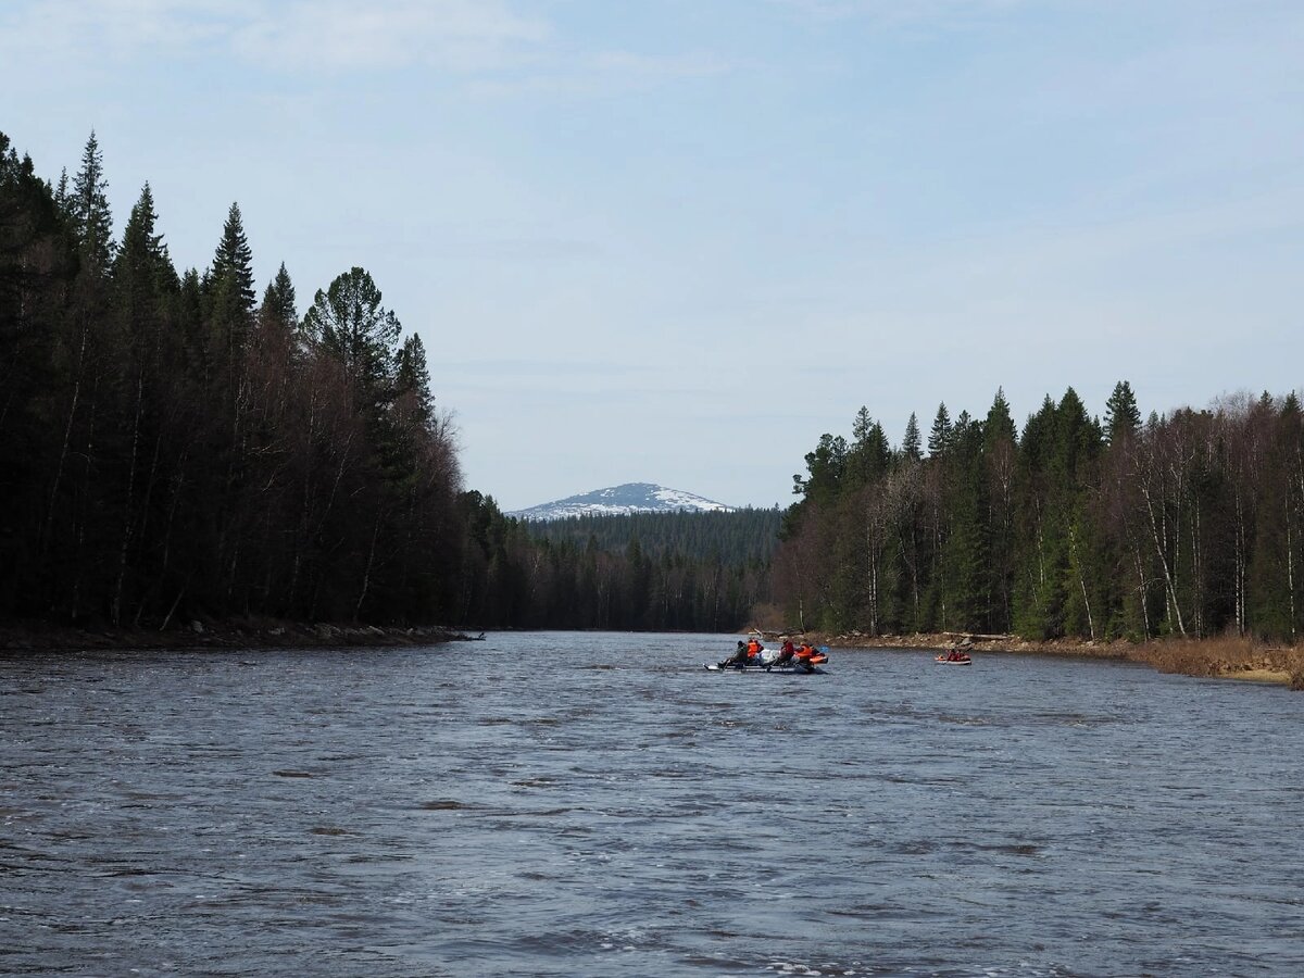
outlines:
{"label": "thin white cloud band along the sky's top left edge", "polygon": [[0,8],[0,56],[72,68],[226,52],[293,74],[413,67],[472,94],[610,94],[730,72],[712,52],[583,50],[509,0],[18,0]]}

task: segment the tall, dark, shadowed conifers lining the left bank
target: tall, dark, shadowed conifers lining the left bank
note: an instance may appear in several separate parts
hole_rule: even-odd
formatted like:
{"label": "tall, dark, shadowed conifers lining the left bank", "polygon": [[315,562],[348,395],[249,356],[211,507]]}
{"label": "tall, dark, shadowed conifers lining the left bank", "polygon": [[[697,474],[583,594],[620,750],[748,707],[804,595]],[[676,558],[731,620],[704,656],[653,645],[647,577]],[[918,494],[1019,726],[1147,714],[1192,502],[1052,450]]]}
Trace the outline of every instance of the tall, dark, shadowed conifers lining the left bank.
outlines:
{"label": "tall, dark, shadowed conifers lining the left bank", "polygon": [[0,615],[447,621],[464,510],[425,351],[355,267],[261,303],[240,209],[177,271],[146,184],[113,240],[94,134],[0,134]]}

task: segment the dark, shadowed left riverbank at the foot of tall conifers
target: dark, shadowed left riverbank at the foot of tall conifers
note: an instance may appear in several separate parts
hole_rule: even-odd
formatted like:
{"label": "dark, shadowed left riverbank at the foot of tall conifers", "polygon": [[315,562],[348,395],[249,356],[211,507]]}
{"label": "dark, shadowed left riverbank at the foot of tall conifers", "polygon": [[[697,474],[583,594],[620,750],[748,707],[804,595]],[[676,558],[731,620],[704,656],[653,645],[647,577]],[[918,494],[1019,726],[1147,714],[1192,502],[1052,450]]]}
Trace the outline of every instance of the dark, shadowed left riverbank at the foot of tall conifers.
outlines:
{"label": "dark, shadowed left riverbank at the foot of tall conifers", "polygon": [[91,649],[338,648],[346,645],[432,645],[482,638],[442,625],[395,627],[241,619],[192,621],[170,629],[70,627],[50,622],[0,622],[0,652],[85,652]]}

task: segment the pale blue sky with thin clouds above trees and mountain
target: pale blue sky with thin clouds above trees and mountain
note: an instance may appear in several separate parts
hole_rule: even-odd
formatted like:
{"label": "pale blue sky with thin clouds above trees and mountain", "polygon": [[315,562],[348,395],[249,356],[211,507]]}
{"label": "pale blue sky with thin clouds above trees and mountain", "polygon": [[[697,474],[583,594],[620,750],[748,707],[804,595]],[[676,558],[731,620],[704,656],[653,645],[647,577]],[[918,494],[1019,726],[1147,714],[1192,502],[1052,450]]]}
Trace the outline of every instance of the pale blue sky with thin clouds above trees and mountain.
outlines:
{"label": "pale blue sky with thin clouds above trees and mountain", "polygon": [[3,0],[0,65],[179,270],[232,202],[259,295],[366,269],[509,511],[1304,389],[1299,0]]}

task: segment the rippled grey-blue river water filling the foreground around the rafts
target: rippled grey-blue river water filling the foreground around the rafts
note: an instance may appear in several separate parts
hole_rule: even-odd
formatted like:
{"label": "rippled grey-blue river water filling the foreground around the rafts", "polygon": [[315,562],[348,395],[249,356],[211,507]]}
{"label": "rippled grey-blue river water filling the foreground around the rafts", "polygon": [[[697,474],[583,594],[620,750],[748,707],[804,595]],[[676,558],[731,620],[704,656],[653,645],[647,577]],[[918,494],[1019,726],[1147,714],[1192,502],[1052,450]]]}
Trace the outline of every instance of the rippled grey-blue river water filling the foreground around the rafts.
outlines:
{"label": "rippled grey-blue river water filling the foreground around the rafts", "polygon": [[0,659],[0,973],[1304,974],[1304,696],[719,635]]}

